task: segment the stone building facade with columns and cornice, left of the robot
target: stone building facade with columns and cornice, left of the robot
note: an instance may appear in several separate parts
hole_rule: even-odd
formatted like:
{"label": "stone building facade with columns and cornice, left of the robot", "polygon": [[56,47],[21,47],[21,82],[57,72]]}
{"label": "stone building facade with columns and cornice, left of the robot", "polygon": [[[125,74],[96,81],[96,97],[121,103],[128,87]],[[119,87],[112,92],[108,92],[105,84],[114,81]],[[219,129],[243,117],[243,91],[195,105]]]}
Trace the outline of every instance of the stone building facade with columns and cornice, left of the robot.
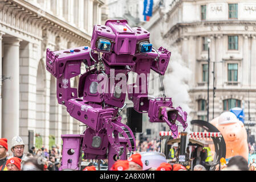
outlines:
{"label": "stone building facade with columns and cornice, left of the robot", "polygon": [[[0,137],[29,131],[61,144],[61,134],[84,130],[56,100],[56,79],[45,69],[46,48],[90,46],[94,24],[101,24],[101,0],[5,0],[0,3]],[[71,85],[78,85],[78,78]],[[33,141],[33,140],[32,140]]]}

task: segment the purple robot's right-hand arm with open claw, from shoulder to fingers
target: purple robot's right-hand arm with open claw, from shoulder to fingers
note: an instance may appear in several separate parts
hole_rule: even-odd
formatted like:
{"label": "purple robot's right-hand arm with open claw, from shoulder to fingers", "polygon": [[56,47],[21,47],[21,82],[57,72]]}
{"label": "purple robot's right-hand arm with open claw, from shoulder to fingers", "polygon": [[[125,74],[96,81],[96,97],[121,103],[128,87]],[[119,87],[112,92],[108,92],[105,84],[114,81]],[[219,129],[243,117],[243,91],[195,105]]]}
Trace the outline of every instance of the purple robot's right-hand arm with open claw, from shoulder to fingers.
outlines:
{"label": "purple robot's right-hand arm with open claw, from shoulder to fingers", "polygon": [[[160,47],[159,50],[143,56],[133,68],[134,72],[144,73],[145,75],[152,69],[160,75],[164,75],[170,59],[168,50]],[[148,59],[145,59],[145,57],[148,57]],[[150,98],[148,96],[148,77],[141,75],[137,77],[135,84],[128,85],[128,98],[133,102],[134,109],[139,113],[148,112],[150,122],[166,122],[174,137],[177,137],[178,126],[176,120],[182,124],[185,130],[188,126],[186,123],[187,113],[182,111],[180,106],[174,108],[172,98]]]}

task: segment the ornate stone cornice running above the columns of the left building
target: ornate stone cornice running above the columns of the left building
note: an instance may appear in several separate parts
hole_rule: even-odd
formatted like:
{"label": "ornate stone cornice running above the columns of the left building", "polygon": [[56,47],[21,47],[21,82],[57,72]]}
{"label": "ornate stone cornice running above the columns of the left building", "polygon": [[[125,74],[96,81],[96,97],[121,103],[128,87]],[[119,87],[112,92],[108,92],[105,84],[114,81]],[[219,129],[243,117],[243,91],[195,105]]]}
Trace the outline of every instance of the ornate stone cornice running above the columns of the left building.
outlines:
{"label": "ornate stone cornice running above the columns of the left building", "polygon": [[[102,2],[102,1],[100,1]],[[26,32],[40,38],[44,28],[55,35],[70,36],[74,41],[90,43],[91,36],[60,20],[47,12],[40,13],[39,7],[25,0],[2,0],[0,2],[0,23],[12,26],[15,30]]]}

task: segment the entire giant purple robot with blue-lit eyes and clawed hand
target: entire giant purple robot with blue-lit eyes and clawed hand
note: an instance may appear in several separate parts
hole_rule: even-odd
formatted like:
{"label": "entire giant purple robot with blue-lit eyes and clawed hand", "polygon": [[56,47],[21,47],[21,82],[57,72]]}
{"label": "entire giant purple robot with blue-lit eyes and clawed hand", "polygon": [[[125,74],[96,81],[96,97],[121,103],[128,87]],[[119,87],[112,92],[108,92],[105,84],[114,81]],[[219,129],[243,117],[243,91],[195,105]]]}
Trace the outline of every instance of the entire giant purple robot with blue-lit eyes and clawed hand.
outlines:
{"label": "entire giant purple robot with blue-lit eyes and clawed hand", "polygon": [[[94,26],[91,48],[47,49],[46,69],[57,78],[58,103],[87,126],[83,134],[62,135],[60,170],[80,170],[82,151],[85,159],[108,159],[110,169],[115,160],[125,160],[128,151],[136,150],[133,132],[119,115],[127,90],[134,110],[148,113],[150,122],[166,122],[174,136],[176,120],[184,130],[188,126],[187,113],[174,108],[171,98],[148,96],[147,76],[127,84],[129,72],[147,75],[153,69],[161,78],[166,71],[170,52],[152,47],[149,35],[144,28],[130,27],[127,20],[107,20]],[[86,73],[80,75],[82,63]],[[79,75],[78,89],[71,88],[70,78]]]}

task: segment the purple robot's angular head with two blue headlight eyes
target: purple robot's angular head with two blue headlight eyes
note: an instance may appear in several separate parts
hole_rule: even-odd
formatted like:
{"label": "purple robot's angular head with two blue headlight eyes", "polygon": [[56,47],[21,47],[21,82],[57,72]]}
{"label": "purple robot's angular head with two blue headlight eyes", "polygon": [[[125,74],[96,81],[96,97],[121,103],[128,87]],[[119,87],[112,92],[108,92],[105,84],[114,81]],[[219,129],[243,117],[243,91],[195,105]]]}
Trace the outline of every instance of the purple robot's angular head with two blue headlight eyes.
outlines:
{"label": "purple robot's angular head with two blue headlight eyes", "polygon": [[95,25],[91,47],[95,51],[116,55],[136,55],[152,51],[149,32],[131,28],[127,20],[107,20],[105,26]]}

